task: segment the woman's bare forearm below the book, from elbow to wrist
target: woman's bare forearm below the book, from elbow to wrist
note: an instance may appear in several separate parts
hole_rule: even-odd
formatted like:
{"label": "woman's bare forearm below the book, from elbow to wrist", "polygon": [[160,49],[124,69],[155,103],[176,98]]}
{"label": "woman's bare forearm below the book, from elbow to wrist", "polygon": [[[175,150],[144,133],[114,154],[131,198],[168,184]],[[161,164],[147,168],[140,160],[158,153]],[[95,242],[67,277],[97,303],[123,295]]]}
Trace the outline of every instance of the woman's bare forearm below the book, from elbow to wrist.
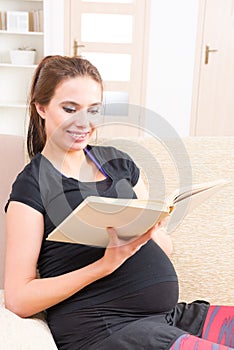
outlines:
{"label": "woman's bare forearm below the book, from elbow to wrist", "polygon": [[79,270],[49,278],[33,278],[17,290],[6,289],[6,308],[20,317],[43,311],[78,292],[88,284],[105,277],[109,271],[102,259]]}

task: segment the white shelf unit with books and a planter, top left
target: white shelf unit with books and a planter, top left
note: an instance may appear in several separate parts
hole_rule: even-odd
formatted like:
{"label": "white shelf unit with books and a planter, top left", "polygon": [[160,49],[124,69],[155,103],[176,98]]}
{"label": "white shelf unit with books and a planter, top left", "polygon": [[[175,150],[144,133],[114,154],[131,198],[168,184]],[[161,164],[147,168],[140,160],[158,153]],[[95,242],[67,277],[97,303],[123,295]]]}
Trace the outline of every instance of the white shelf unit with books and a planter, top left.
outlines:
{"label": "white shelf unit with books and a planter, top left", "polygon": [[[43,0],[2,0],[0,11],[44,11]],[[45,55],[43,32],[10,32],[0,30],[0,133],[25,135],[27,99],[37,63]],[[10,62],[10,50],[19,47],[36,49],[33,65]]]}

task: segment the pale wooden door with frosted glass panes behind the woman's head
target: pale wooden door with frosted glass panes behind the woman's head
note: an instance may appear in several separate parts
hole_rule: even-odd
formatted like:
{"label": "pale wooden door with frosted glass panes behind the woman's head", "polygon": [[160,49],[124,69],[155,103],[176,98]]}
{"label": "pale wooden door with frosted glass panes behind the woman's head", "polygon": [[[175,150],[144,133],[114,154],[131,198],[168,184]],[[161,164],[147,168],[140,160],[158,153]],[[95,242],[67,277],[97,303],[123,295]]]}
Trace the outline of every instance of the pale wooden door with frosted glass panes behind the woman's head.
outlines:
{"label": "pale wooden door with frosted glass panes behind the woman's head", "polygon": [[135,106],[145,105],[149,5],[149,0],[66,1],[65,53],[90,60],[104,80],[104,136],[135,137],[144,126]]}

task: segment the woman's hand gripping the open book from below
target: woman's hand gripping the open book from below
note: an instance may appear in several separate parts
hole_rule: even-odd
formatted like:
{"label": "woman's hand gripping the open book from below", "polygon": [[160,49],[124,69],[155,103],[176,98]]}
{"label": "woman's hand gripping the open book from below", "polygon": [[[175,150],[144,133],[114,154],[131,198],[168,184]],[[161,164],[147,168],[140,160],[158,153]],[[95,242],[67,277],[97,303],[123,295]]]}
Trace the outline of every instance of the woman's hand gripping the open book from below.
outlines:
{"label": "woman's hand gripping the open book from below", "polygon": [[[157,226],[157,225],[156,225]],[[127,259],[133,256],[141,247],[146,244],[155,231],[155,226],[146,233],[131,240],[123,240],[118,237],[117,231],[113,227],[108,227],[109,244],[106,247],[103,261],[106,264],[109,273],[115,271]]]}

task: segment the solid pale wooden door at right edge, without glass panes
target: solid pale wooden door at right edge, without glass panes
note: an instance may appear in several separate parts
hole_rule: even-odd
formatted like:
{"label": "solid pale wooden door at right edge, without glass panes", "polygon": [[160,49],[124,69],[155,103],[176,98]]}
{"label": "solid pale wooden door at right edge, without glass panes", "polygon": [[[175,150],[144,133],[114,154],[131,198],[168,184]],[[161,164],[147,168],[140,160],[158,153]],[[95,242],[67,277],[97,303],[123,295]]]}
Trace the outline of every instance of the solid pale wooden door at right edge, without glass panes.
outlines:
{"label": "solid pale wooden door at right edge, without glass panes", "polygon": [[191,134],[234,135],[234,0],[200,0]]}

